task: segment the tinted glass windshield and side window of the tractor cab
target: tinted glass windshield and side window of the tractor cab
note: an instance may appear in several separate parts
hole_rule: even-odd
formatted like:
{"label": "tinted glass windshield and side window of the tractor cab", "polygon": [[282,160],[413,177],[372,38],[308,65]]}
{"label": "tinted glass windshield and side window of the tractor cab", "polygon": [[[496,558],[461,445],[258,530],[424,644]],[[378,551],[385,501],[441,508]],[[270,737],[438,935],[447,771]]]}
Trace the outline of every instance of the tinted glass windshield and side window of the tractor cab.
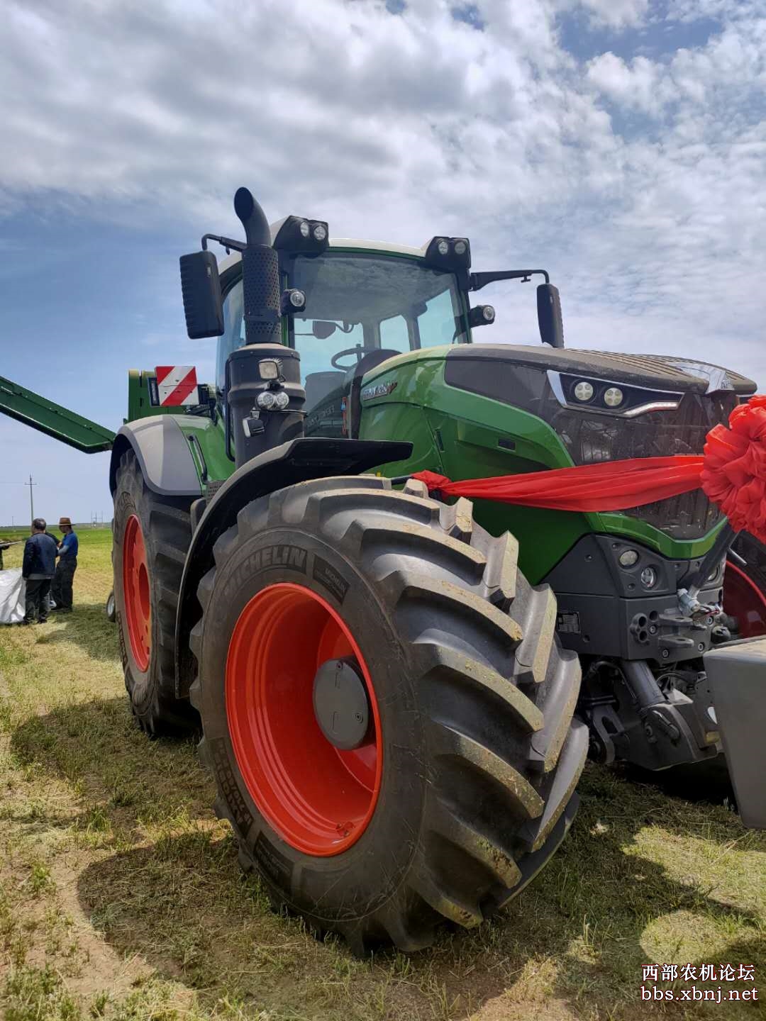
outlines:
{"label": "tinted glass windshield and side window of the tractor cab", "polygon": [[[298,255],[283,286],[305,294],[305,310],[288,320],[288,343],[300,352],[303,379],[313,376],[319,384],[321,376],[323,391],[371,351],[393,354],[470,340],[454,274],[415,258],[343,251]],[[226,359],[245,343],[241,281],[226,297],[224,323],[220,387]],[[306,403],[314,403],[308,396]]]}

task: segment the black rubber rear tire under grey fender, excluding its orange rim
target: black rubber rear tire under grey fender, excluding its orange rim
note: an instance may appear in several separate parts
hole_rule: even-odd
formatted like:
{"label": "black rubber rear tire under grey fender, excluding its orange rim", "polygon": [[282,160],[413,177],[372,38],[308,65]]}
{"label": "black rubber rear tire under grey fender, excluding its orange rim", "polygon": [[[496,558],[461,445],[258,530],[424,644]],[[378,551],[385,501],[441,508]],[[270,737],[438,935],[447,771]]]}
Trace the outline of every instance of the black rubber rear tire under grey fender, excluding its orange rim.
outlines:
{"label": "black rubber rear tire under grey fender, excluding its orange rim", "polygon": [[[112,569],[114,612],[125,686],[139,726],[149,736],[182,733],[199,725],[190,703],[176,698],[176,609],[186,551],[191,543],[190,500],[164,497],[144,481],[132,450],[119,459],[114,490]],[[126,526],[135,516],[146,546],[151,607],[151,654],[142,670],[127,630],[123,552]]]}

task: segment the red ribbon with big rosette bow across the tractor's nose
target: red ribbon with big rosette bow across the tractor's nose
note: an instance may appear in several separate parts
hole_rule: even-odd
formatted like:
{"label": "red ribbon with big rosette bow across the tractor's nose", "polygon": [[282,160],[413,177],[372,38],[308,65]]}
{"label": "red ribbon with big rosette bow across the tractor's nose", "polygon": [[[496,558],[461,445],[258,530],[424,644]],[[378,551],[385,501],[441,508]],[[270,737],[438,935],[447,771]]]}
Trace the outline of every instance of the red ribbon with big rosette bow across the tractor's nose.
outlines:
{"label": "red ribbon with big rosette bow across the tractor's nose", "polygon": [[735,531],[766,542],[766,396],[735,407],[728,428],[711,429],[702,456],[632,457],[460,482],[436,472],[413,478],[444,496],[581,512],[626,510],[702,488]]}

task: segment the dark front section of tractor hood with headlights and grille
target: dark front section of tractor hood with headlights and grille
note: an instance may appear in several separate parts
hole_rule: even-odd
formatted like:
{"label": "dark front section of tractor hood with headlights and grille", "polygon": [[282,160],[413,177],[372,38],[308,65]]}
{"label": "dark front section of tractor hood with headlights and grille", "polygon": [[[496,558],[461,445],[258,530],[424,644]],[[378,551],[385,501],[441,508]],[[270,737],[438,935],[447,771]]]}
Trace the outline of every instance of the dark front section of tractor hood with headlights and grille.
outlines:
{"label": "dark front section of tractor hood with headlights and grille", "polygon": [[[575,465],[701,454],[709,430],[756,390],[737,373],[690,359],[511,344],[449,349],[444,382],[507,404],[512,439],[513,408],[542,419]],[[625,513],[678,539],[707,535],[722,517],[701,490]]]}

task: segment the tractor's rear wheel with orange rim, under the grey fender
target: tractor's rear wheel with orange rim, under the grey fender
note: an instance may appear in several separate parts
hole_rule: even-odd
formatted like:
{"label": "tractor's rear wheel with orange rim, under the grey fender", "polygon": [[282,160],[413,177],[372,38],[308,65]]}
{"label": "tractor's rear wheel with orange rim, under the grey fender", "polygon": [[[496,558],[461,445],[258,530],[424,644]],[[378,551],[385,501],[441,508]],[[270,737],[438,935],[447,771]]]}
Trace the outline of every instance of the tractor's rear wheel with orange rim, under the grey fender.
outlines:
{"label": "tractor's rear wheel with orange rim, under the grey fender", "polygon": [[139,726],[150,737],[199,725],[176,698],[176,610],[191,543],[190,500],[149,489],[132,450],[119,459],[114,490],[114,609],[125,686]]}

